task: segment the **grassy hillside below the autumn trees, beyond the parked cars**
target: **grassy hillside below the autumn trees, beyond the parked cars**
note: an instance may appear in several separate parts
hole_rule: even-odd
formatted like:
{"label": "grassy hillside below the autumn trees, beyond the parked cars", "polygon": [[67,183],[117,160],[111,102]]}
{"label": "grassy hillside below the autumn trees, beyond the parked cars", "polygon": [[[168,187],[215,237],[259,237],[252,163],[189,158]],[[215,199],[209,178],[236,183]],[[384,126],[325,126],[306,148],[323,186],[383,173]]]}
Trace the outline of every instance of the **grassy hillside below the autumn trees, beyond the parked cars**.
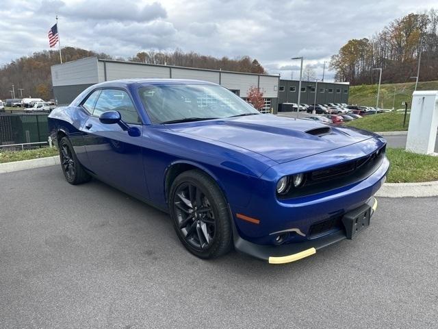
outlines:
{"label": "grassy hillside below the autumn trees, beyond the parked cars", "polygon": [[[363,84],[361,86],[350,86],[348,103],[361,106],[376,106],[377,84]],[[380,108],[404,108],[402,101],[408,101],[411,106],[412,93],[415,82],[403,84],[382,84],[379,101]],[[417,90],[438,90],[438,81],[419,82]],[[395,102],[394,102],[395,93]]]}

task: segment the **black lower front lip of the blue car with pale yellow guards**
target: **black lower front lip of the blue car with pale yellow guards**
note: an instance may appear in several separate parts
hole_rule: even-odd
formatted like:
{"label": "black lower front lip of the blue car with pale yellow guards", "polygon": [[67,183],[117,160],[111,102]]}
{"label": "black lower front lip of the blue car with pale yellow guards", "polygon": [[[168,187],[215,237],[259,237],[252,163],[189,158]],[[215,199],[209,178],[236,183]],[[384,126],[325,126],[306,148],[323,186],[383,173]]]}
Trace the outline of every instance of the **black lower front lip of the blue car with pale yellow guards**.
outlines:
{"label": "black lower front lip of the blue car with pale yellow guards", "polygon": [[[377,208],[377,200],[372,197],[366,204],[371,208],[371,214]],[[270,264],[291,263],[296,260],[311,256],[317,250],[333,245],[347,238],[344,230],[327,234],[318,239],[302,241],[299,243],[286,243],[284,245],[257,245],[250,241],[246,241],[240,237],[237,232],[234,232],[234,247],[238,252],[243,252],[260,260],[268,261]]]}

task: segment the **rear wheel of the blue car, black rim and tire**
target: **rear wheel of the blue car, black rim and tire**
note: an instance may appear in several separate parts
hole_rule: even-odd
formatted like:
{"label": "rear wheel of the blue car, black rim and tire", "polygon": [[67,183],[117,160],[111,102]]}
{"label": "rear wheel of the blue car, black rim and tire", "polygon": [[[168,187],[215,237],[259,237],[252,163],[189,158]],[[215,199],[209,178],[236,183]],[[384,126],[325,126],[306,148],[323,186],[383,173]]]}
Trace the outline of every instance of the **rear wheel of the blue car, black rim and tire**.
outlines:
{"label": "rear wheel of the blue car, black rim and tire", "polygon": [[60,159],[62,172],[67,182],[77,185],[90,181],[91,176],[77,160],[75,150],[67,137],[61,138],[60,141]]}

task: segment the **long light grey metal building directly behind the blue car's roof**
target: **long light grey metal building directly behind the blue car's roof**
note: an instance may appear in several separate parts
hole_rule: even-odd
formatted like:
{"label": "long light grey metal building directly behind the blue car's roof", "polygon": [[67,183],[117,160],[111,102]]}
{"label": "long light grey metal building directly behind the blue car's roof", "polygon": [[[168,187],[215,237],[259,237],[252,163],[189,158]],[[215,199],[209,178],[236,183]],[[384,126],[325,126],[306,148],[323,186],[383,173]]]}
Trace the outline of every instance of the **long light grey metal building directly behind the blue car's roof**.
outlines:
{"label": "long light grey metal building directly behind the blue car's roof", "polygon": [[276,113],[279,99],[279,75],[241,73],[190,67],[143,64],[96,57],[51,66],[53,94],[60,104],[70,103],[92,84],[131,78],[171,78],[204,80],[220,84],[245,98],[248,89],[256,86],[263,91],[262,112]]}

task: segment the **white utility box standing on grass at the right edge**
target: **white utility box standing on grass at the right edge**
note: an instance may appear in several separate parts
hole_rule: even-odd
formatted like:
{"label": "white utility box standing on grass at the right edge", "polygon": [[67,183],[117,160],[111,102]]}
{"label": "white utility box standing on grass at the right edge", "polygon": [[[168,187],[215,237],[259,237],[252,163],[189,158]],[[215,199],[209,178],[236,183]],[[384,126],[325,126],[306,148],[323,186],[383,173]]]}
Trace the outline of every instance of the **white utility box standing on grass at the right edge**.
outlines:
{"label": "white utility box standing on grass at the right edge", "polygon": [[413,92],[406,150],[434,154],[438,129],[438,90]]}

